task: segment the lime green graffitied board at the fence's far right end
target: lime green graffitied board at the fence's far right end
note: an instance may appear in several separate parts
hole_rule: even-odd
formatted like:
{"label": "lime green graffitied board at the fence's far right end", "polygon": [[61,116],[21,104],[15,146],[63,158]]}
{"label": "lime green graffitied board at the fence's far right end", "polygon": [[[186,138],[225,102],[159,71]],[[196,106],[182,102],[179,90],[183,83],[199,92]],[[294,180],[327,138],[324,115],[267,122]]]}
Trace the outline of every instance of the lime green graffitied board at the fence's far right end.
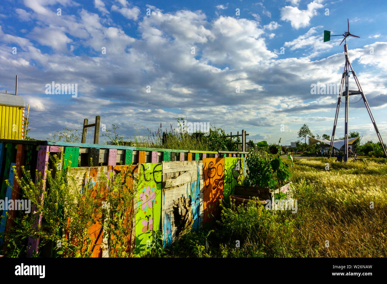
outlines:
{"label": "lime green graffitied board at the fence's far right end", "polygon": [[242,158],[224,158],[224,199],[228,201],[228,196],[235,194],[235,185],[240,181]]}

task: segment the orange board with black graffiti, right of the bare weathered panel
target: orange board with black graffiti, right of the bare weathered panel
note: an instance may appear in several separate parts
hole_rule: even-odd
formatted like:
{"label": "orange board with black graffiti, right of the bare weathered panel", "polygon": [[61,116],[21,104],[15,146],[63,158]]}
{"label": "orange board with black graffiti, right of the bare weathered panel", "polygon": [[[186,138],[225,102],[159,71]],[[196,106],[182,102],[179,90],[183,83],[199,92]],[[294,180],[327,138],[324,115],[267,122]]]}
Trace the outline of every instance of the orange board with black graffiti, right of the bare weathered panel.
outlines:
{"label": "orange board with black graffiti, right of the bare weathered panel", "polygon": [[224,197],[224,158],[203,159],[204,226],[211,226],[220,215],[219,201]]}

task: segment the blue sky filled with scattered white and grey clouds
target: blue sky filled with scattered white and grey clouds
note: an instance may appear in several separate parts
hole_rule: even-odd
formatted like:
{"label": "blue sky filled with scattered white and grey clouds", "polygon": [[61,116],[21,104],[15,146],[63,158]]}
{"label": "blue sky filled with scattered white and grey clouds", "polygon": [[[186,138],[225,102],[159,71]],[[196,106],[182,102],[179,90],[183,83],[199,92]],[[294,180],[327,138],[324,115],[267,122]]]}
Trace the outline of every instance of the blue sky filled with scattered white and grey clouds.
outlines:
{"label": "blue sky filled with scattered white and grey clouds", "polygon": [[[342,34],[347,18],[360,36],[347,41],[349,59],[386,141],[384,1],[3,0],[0,92],[14,93],[18,75],[36,139],[96,115],[125,140],[184,117],[290,145],[304,123],[332,133],[337,95],[311,85],[340,82],[342,37],[324,43],[323,32]],[[77,96],[46,94],[53,81],[77,84]],[[349,130],[376,141],[359,99],[350,98]],[[338,124],[337,137],[344,104]]]}

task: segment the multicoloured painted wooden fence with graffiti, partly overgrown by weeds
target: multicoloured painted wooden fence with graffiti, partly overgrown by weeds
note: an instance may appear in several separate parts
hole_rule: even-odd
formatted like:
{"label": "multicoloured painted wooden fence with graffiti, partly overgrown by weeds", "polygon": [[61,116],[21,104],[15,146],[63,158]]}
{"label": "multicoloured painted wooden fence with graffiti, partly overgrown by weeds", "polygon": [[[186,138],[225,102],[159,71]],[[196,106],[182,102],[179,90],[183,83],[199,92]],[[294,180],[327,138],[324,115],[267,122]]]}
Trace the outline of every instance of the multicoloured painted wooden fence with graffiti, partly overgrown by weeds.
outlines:
{"label": "multicoloured painted wooden fence with graffiti, partly overgrown by weeds", "polygon": [[[49,163],[53,155],[60,158],[59,165]],[[109,182],[120,173],[125,176],[122,184],[134,195],[133,204],[127,206],[125,213],[125,222],[132,224],[127,236],[128,253],[142,254],[151,248],[154,237],[160,232],[164,245],[168,246],[184,231],[214,224],[220,214],[219,202],[227,200],[234,193],[235,185],[247,175],[246,155],[246,152],[0,139],[0,173],[3,180],[0,199],[18,199],[21,196],[12,175],[12,165],[15,165],[18,175],[21,174],[21,166],[25,166],[31,171],[33,179],[36,179],[34,172],[37,169],[44,181],[49,167],[67,169],[68,174],[74,176],[75,187],[80,192],[94,192],[101,182],[107,192]],[[5,180],[9,179],[10,185],[7,185]],[[35,214],[37,224],[41,224],[42,216]],[[12,220],[7,218],[10,216],[7,210],[1,208],[0,216],[5,217],[0,223],[1,248],[1,241],[12,226]],[[88,229],[93,257],[108,257],[111,254],[103,238],[106,226],[101,219],[102,216],[95,216],[95,222]],[[65,238],[71,238],[68,231],[63,229],[62,233]],[[33,251],[38,250],[39,240],[29,238],[26,245],[29,247],[27,256],[31,256]]]}

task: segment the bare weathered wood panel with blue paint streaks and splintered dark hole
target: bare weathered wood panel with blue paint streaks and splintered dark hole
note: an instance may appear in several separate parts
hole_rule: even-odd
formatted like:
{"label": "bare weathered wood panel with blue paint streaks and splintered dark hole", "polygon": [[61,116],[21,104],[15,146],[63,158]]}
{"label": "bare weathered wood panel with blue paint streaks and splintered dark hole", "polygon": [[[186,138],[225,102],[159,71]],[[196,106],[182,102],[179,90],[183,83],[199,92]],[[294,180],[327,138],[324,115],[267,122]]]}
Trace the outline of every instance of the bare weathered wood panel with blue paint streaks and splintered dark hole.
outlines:
{"label": "bare weathered wood panel with blue paint streaks and splintered dark hole", "polygon": [[[195,170],[192,168],[195,167]],[[162,229],[164,246],[183,231],[202,225],[203,163],[201,161],[163,162]],[[175,172],[172,172],[175,170]]]}

